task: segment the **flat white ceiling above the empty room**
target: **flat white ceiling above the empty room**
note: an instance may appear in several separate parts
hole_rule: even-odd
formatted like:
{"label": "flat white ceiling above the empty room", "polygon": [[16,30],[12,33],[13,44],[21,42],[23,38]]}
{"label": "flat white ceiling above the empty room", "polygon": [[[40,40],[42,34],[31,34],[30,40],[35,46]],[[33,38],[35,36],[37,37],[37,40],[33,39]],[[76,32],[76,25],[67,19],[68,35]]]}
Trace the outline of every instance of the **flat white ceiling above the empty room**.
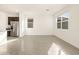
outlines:
{"label": "flat white ceiling above the empty room", "polygon": [[0,4],[0,10],[9,13],[29,11],[54,14],[65,6],[65,4]]}

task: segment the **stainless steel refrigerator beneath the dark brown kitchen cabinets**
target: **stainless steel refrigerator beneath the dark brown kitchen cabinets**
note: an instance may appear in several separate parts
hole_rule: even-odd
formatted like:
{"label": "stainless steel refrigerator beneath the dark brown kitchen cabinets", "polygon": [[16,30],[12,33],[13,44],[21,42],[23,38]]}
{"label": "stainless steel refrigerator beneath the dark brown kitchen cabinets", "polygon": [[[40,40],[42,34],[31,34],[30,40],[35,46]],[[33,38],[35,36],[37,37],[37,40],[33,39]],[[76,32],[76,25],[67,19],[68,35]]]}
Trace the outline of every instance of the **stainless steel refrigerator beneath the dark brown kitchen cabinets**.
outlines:
{"label": "stainless steel refrigerator beneath the dark brown kitchen cabinets", "polygon": [[12,27],[11,36],[19,36],[19,21],[11,21],[10,24]]}

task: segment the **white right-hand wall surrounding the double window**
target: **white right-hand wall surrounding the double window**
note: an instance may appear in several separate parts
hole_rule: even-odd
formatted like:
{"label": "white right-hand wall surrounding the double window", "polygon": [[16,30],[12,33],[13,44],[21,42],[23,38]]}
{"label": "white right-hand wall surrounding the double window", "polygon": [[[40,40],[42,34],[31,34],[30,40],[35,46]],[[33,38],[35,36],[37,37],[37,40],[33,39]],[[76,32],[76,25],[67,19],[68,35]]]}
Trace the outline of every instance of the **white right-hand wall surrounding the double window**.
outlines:
{"label": "white right-hand wall surrounding the double window", "polygon": [[[69,13],[69,29],[62,30],[56,28],[56,17],[65,13]],[[64,41],[79,48],[79,5],[70,5],[53,16],[54,19],[54,35]]]}

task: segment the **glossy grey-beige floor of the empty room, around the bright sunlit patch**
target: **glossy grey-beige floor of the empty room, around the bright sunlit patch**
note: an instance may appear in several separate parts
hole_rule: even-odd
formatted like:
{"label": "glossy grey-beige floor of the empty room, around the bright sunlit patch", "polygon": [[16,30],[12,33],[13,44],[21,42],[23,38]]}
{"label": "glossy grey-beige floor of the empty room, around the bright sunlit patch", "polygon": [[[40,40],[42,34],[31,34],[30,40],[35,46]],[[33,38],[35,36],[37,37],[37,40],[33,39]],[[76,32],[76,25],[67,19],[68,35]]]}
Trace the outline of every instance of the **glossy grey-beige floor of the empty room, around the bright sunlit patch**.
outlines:
{"label": "glossy grey-beige floor of the empty room, around the bright sunlit patch", "polygon": [[[0,46],[1,55],[47,55],[52,43],[61,47],[66,55],[77,55],[79,49],[56,36],[24,36]],[[53,49],[53,48],[52,48]],[[52,52],[53,53],[53,52]]]}

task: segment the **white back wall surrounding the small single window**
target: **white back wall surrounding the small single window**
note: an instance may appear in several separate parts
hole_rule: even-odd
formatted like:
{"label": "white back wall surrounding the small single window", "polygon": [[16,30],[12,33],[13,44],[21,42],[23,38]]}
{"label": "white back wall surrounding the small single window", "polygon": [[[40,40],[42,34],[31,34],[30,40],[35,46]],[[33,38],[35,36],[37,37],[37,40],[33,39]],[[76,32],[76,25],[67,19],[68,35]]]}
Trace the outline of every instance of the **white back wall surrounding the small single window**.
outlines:
{"label": "white back wall surrounding the small single window", "polygon": [[[27,28],[27,19],[34,19],[33,28]],[[20,13],[21,33],[25,35],[52,35],[53,34],[53,20],[52,16],[43,13],[22,12]],[[23,28],[24,27],[24,28]]]}

